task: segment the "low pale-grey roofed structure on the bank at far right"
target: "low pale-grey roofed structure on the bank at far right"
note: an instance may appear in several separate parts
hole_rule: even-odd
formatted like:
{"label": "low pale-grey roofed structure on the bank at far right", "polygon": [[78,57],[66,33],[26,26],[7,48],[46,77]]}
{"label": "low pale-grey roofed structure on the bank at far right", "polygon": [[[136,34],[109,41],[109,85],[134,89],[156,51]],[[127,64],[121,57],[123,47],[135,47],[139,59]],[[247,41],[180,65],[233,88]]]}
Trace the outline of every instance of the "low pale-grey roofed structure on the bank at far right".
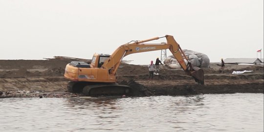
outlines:
{"label": "low pale-grey roofed structure on the bank at far right", "polygon": [[259,58],[226,58],[224,59],[226,64],[263,64],[263,61]]}

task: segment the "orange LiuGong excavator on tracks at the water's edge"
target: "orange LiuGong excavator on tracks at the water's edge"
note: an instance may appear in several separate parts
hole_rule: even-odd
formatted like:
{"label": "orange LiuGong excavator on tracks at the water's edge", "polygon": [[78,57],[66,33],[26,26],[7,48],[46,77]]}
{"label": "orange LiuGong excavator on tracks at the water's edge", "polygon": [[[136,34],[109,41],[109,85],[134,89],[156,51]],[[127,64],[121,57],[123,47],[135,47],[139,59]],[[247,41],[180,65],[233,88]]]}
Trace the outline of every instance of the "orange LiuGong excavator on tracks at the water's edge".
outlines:
{"label": "orange LiuGong excavator on tracks at the water's edge", "polygon": [[[167,43],[145,44],[146,42],[166,38]],[[70,62],[65,68],[65,78],[70,92],[82,92],[87,96],[124,95],[131,92],[126,85],[117,84],[116,71],[122,59],[133,53],[169,49],[186,75],[192,76],[199,85],[204,84],[204,73],[199,67],[193,67],[171,35],[155,37],[142,41],[131,41],[119,46],[111,55],[94,53],[91,62]],[[187,60],[187,63],[184,61]]]}

